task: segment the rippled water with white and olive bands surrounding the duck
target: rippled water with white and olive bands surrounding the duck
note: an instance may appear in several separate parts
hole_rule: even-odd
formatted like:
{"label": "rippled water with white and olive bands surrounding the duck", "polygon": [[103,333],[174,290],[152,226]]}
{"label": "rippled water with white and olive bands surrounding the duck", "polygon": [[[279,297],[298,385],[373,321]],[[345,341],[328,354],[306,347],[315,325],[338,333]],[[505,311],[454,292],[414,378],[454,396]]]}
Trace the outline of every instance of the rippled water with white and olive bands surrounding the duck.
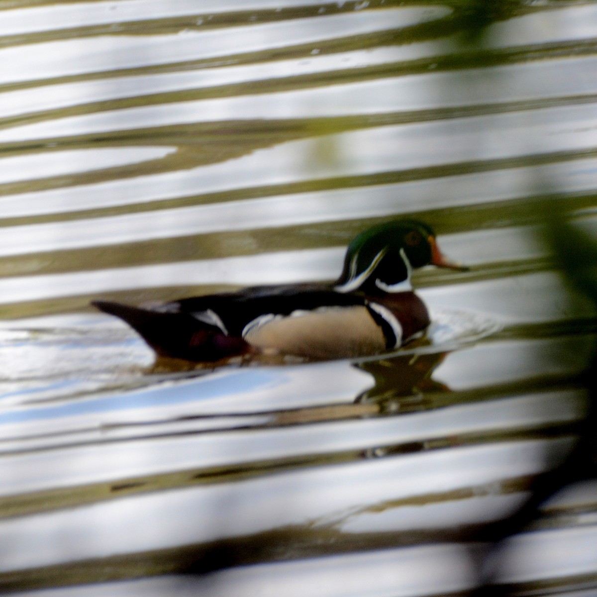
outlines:
{"label": "rippled water with white and olive bands surrounding the duck", "polygon": [[[480,563],[596,330],[541,224],[597,227],[597,4],[491,6],[0,7],[1,591],[594,594],[594,480]],[[393,355],[155,366],[88,306],[334,279],[402,214],[471,269]]]}

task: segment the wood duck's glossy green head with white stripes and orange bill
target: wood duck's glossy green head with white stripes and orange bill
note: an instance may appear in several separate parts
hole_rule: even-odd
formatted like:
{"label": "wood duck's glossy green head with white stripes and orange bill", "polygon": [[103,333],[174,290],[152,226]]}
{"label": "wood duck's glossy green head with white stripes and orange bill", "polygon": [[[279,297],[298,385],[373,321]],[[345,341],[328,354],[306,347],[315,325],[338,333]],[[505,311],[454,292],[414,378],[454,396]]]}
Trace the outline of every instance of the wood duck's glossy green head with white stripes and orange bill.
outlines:
{"label": "wood duck's glossy green head with white stripes and orange bill", "polygon": [[411,272],[426,265],[466,269],[442,255],[435,232],[427,224],[417,220],[378,224],[348,245],[336,290],[370,294],[411,290]]}

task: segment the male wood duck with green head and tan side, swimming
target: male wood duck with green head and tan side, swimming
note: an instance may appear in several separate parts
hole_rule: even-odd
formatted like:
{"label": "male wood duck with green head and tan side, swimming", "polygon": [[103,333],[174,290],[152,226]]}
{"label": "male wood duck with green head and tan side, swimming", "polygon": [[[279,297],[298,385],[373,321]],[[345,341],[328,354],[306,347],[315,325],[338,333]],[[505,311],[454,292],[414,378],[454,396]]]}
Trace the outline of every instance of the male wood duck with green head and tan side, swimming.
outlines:
{"label": "male wood duck with green head and tan side, swimming", "polygon": [[396,220],[353,239],[333,284],[258,286],[147,309],[92,304],[124,319],[162,357],[194,362],[260,354],[350,358],[394,350],[423,333],[429,313],[410,278],[414,269],[429,264],[466,269],[441,254],[429,226]]}

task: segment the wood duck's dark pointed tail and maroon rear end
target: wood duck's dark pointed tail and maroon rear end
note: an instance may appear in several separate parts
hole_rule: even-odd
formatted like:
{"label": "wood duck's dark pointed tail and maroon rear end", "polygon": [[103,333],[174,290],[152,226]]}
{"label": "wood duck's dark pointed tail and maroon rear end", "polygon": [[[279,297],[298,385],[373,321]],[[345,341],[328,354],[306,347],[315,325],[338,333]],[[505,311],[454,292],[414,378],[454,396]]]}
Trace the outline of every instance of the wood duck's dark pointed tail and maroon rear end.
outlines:
{"label": "wood duck's dark pointed tail and maroon rear end", "polygon": [[127,322],[160,356],[187,361],[219,361],[247,352],[242,338],[226,336],[189,313],[161,313],[112,301],[93,301],[94,307]]}

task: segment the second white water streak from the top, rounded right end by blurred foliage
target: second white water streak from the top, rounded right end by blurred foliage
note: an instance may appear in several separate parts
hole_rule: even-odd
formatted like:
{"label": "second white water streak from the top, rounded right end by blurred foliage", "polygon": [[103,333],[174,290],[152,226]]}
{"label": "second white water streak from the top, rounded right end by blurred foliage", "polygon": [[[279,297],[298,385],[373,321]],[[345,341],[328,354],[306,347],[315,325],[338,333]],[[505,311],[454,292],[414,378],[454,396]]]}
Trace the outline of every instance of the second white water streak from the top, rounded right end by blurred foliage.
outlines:
{"label": "second white water streak from the top, rounded right end by blurred foliage", "polygon": [[435,20],[450,12],[446,7],[390,8],[205,32],[103,35],[18,45],[0,50],[0,84],[216,59],[241,52],[284,48],[289,43],[318,44],[330,39],[330,32],[344,38]]}

